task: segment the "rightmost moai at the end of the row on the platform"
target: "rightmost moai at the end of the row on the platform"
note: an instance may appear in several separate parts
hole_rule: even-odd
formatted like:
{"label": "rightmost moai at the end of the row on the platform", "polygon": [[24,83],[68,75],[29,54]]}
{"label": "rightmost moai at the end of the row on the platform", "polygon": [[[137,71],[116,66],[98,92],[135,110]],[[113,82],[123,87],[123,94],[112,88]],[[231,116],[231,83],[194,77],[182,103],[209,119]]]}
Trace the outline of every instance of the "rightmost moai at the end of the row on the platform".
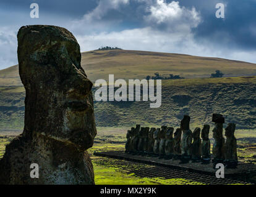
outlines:
{"label": "rightmost moai at the end of the row on the platform", "polygon": [[236,124],[229,123],[225,129],[226,143],[224,148],[224,164],[228,168],[235,168],[237,166],[237,143],[236,137],[234,137],[234,132],[236,130]]}

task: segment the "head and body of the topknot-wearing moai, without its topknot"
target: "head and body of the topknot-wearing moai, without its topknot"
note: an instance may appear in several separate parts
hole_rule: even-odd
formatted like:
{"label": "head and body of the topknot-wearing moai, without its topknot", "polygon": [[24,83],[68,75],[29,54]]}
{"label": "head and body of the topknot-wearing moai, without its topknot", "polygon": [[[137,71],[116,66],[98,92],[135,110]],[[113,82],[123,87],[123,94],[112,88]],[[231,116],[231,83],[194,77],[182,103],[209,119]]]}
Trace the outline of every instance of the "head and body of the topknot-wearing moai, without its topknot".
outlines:
{"label": "head and body of the topknot-wearing moai, without its topknot", "polygon": [[215,142],[213,143],[213,163],[222,163],[224,160],[224,137],[223,137],[223,120],[221,123],[215,123],[213,129],[213,138]]}

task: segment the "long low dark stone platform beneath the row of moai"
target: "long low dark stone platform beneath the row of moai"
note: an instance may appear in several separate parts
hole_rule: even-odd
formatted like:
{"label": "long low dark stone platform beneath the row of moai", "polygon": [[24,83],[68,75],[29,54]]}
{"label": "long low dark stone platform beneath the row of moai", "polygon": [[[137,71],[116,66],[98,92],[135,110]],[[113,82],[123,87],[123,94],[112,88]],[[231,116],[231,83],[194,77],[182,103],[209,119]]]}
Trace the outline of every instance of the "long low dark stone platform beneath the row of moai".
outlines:
{"label": "long low dark stone platform beneath the row of moai", "polygon": [[[213,163],[202,164],[192,163],[190,161],[186,164],[181,164],[179,159],[159,159],[150,156],[141,155],[130,155],[124,153],[124,151],[106,151],[106,152],[95,152],[95,156],[104,156],[114,159],[124,159],[127,161],[135,161],[139,163],[151,164],[156,166],[170,167],[171,169],[179,169],[182,171],[193,172],[204,175],[215,176],[218,169],[213,169]],[[256,165],[239,162],[236,169],[224,169],[224,178],[241,180],[243,182],[256,183]]]}

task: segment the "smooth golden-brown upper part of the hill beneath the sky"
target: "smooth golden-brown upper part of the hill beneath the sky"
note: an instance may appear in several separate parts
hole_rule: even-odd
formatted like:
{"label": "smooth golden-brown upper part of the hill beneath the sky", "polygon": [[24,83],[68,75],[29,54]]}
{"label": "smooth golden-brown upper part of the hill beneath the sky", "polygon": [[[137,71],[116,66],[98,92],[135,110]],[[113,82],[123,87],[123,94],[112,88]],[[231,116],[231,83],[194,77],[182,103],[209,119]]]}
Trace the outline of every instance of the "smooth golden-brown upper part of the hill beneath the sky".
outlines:
{"label": "smooth golden-brown upper part of the hill beneath the sky", "polygon": [[[256,75],[254,63],[137,50],[83,52],[82,66],[93,82],[108,79],[108,74],[114,74],[116,79],[143,79],[156,72],[179,74],[184,78],[208,78],[215,70],[221,70],[226,77]],[[0,86],[22,86],[17,65],[0,70]]]}

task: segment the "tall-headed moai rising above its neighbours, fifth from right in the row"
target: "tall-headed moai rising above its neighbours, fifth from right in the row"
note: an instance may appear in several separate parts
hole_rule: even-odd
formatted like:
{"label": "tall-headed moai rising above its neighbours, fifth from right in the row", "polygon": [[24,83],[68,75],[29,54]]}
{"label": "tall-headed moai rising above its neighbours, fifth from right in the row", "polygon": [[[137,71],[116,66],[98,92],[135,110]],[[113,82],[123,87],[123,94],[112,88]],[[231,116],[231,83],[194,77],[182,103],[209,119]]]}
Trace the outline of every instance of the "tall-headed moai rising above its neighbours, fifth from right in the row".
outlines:
{"label": "tall-headed moai rising above its neighbours, fifth from right in the row", "polygon": [[182,163],[187,163],[192,156],[192,131],[189,129],[190,117],[184,116],[181,120],[181,130],[182,130],[182,139],[181,139],[181,154],[182,154]]}

